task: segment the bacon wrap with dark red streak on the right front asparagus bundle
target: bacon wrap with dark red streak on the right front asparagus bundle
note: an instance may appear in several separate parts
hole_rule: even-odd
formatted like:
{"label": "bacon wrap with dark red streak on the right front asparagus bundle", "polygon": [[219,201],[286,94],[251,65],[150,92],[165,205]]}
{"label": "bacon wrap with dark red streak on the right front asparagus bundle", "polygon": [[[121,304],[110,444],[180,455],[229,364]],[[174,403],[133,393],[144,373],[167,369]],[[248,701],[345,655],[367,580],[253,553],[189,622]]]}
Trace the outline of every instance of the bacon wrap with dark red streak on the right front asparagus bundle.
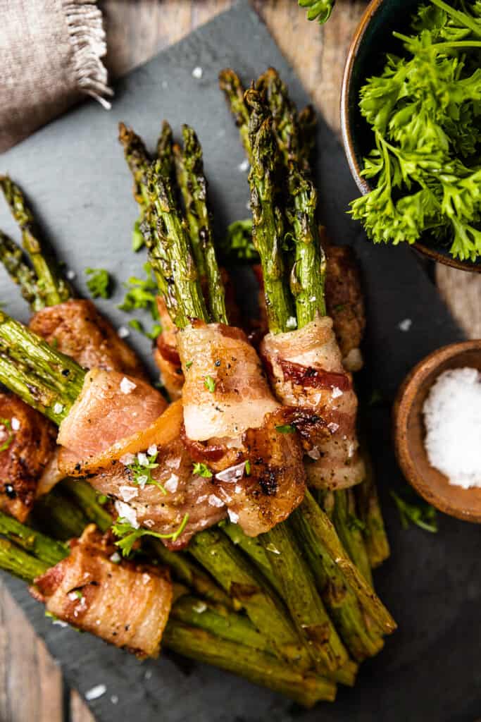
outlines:
{"label": "bacon wrap with dark red streak on the right front asparagus bundle", "polygon": [[332,319],[318,317],[298,331],[268,334],[262,356],[276,396],[291,409],[312,463],[308,483],[339,489],[363,480],[356,437],[357,398],[344,370]]}

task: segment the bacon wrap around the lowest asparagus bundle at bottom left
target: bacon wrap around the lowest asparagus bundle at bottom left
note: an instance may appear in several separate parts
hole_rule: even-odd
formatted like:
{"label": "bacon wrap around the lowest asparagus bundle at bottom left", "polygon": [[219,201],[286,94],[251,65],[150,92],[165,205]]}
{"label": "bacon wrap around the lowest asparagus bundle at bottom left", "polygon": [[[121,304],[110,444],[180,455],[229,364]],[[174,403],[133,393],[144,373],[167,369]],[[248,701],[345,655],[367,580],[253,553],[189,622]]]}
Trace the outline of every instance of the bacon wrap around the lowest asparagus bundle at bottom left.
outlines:
{"label": "bacon wrap around the lowest asparagus bundle at bottom left", "polygon": [[71,542],[69,557],[35,579],[32,594],[58,619],[141,657],[159,654],[172,604],[161,567],[115,563],[115,547],[94,525]]}

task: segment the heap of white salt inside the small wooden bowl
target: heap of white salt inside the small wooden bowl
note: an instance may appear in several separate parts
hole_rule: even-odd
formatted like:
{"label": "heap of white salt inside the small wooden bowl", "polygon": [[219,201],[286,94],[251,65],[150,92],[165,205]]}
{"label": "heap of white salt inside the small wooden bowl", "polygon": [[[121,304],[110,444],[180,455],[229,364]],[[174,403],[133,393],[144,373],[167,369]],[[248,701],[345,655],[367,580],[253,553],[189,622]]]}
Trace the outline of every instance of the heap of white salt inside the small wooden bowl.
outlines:
{"label": "heap of white salt inside the small wooden bowl", "polygon": [[451,484],[481,487],[481,373],[469,367],[441,373],[423,412],[430,464]]}

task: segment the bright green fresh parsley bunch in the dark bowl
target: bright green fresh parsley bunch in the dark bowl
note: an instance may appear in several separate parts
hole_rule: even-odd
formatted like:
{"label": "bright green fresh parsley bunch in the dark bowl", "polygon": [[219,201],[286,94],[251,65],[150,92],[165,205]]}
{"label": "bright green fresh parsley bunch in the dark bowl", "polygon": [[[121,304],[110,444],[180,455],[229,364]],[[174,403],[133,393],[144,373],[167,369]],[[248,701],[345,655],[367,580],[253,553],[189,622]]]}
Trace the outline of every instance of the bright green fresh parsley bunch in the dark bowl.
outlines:
{"label": "bright green fresh parsley bunch in the dark bowl", "polygon": [[387,56],[361,89],[376,147],[363,175],[376,188],[351,204],[375,243],[450,245],[481,256],[481,1],[431,0],[412,19],[406,57]]}

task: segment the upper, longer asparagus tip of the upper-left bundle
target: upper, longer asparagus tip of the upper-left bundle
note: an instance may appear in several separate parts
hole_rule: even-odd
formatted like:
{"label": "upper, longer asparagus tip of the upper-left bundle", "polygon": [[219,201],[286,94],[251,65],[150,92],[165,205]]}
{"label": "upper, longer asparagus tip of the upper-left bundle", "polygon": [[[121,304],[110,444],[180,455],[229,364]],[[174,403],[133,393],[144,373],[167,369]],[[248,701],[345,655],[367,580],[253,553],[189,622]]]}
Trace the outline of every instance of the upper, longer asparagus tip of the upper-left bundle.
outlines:
{"label": "upper, longer asparagus tip of the upper-left bundle", "polygon": [[38,284],[43,290],[45,305],[53,306],[68,300],[71,297],[69,284],[63,279],[45,243],[40,240],[35,218],[22,191],[8,175],[0,176],[0,188],[22,231],[23,246],[30,256]]}

